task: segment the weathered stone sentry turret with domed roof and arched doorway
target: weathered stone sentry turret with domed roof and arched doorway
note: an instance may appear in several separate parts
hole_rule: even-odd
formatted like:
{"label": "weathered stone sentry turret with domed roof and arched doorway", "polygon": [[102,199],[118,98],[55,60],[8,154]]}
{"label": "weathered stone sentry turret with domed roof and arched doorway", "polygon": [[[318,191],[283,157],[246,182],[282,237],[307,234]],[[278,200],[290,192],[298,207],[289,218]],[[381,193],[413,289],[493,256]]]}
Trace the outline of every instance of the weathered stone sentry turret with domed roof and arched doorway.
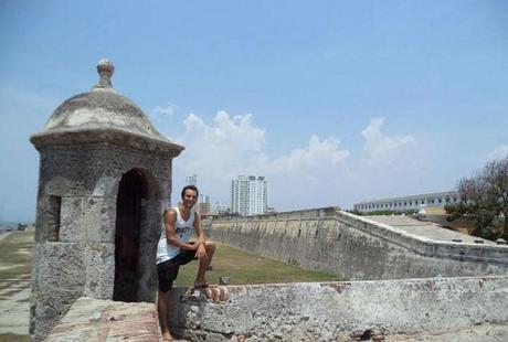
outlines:
{"label": "weathered stone sentry turret with domed roof and arched doorway", "polygon": [[80,297],[154,302],[170,142],[97,65],[88,93],[59,106],[30,140],[40,152],[30,333],[40,341]]}

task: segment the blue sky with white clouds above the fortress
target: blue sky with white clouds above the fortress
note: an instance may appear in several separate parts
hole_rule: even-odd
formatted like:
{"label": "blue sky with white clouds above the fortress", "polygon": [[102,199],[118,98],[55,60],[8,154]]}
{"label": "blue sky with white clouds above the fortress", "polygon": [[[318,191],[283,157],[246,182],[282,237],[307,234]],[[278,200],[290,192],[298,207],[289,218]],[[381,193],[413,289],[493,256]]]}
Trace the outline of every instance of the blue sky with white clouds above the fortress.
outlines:
{"label": "blue sky with white clouds above the fortress", "polygon": [[0,1],[0,221],[33,221],[52,111],[114,87],[212,204],[277,211],[448,191],[508,154],[507,1]]}

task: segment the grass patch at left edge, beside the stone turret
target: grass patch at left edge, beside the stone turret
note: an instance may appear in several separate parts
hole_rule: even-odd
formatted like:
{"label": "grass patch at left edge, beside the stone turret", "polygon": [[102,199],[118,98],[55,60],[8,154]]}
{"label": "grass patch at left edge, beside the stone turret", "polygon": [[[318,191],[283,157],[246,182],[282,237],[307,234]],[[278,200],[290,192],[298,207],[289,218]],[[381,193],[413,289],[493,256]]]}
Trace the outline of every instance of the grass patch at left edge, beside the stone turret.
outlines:
{"label": "grass patch at left edge, beside the stone turret", "polygon": [[0,241],[0,281],[29,279],[32,271],[34,232],[13,232]]}

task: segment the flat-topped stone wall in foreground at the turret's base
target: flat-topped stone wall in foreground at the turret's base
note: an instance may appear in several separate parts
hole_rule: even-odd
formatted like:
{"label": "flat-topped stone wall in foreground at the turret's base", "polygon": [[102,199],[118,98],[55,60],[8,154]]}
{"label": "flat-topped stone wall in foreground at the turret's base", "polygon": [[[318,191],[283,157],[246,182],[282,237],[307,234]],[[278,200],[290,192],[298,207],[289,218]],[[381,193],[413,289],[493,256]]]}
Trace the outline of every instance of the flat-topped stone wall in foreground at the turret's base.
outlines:
{"label": "flat-topped stone wall in foreground at the turret's base", "polygon": [[82,297],[45,341],[161,341],[156,306]]}

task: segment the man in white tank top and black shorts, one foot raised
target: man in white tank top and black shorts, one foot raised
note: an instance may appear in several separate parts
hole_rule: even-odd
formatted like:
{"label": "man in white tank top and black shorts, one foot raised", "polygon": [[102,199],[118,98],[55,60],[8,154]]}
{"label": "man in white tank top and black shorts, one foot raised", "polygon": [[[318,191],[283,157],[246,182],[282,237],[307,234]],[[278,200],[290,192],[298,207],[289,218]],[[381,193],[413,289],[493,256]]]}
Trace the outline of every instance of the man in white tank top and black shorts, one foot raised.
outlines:
{"label": "man in white tank top and black shorts, one foot raised", "polygon": [[[176,207],[166,210],[163,214],[165,229],[157,247],[157,271],[159,274],[157,311],[163,341],[172,341],[168,328],[168,293],[178,276],[180,265],[198,259],[199,269],[194,287],[211,286],[207,282],[204,274],[212,260],[215,245],[211,241],[204,239],[199,215],[192,210],[198,201],[198,188],[184,186],[181,192],[181,203]],[[189,242],[192,228],[197,236],[193,243]]]}

